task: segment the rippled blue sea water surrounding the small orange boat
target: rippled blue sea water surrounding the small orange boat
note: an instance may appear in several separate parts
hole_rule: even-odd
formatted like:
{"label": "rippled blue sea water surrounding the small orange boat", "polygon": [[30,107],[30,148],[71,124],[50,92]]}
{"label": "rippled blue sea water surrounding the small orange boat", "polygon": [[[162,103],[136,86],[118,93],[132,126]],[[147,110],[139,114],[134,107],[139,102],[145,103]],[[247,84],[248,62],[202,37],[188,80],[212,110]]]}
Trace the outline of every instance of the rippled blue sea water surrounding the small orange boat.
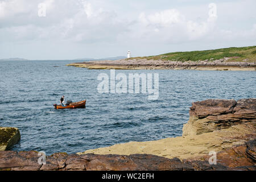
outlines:
{"label": "rippled blue sea water surrounding the small orange boat", "polygon": [[[18,127],[11,150],[81,152],[130,141],[182,135],[194,101],[256,97],[256,72],[116,70],[159,73],[159,98],[98,93],[97,76],[109,70],[67,67],[72,61],[0,61],[0,126]],[[55,110],[86,99],[85,109]]]}

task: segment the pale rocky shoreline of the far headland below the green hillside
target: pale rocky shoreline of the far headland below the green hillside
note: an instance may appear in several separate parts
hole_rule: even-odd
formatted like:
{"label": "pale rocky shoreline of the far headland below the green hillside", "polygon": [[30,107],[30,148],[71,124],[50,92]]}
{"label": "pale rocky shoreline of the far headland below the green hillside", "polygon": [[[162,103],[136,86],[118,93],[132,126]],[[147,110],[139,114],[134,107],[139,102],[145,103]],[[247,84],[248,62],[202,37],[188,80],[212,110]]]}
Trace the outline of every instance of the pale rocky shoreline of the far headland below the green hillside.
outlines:
{"label": "pale rocky shoreline of the far headland below the green hillside", "polygon": [[192,69],[214,71],[256,71],[256,62],[231,62],[230,57],[220,60],[170,61],[142,58],[121,60],[87,61],[68,66],[88,69]]}

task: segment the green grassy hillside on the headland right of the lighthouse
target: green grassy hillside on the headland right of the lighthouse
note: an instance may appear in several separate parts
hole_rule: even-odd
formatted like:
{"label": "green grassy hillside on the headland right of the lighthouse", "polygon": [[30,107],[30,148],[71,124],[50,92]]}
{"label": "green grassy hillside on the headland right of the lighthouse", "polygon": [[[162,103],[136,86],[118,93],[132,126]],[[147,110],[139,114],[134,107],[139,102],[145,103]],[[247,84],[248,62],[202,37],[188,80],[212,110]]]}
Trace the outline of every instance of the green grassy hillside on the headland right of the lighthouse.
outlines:
{"label": "green grassy hillside on the headland right of the lighthouse", "polygon": [[[251,47],[230,47],[214,49],[207,51],[190,51],[190,52],[171,52],[158,56],[137,57],[146,59],[161,59],[172,61],[198,61],[198,60],[217,60],[224,57],[232,57],[228,61],[247,61],[256,62],[256,46]],[[134,57],[135,58],[135,57]]]}

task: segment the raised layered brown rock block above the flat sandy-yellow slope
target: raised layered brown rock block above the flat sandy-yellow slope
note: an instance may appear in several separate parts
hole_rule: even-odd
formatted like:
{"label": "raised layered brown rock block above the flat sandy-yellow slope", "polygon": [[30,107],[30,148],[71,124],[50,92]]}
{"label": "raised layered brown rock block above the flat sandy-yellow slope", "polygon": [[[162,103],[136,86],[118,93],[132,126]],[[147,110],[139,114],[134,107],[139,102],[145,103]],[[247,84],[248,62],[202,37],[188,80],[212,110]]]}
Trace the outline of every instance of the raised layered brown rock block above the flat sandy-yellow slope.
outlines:
{"label": "raised layered brown rock block above the flat sandy-yellow slope", "polygon": [[241,123],[256,122],[256,99],[205,100],[193,102],[183,136],[226,129]]}

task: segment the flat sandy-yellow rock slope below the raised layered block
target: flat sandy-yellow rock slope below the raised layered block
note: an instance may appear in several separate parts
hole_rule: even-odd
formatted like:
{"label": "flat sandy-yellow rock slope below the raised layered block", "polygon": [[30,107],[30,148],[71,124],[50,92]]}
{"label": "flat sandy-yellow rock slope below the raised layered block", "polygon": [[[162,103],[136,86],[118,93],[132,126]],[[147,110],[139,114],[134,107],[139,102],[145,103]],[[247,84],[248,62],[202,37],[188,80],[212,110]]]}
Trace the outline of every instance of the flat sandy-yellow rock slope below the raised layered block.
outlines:
{"label": "flat sandy-yellow rock slope below the raised layered block", "polygon": [[[243,131],[246,133],[241,133]],[[222,151],[234,144],[242,144],[253,138],[255,138],[255,123],[254,125],[247,123],[201,135],[115,144],[79,154],[152,154],[170,159],[187,159],[209,154],[209,151]]]}

